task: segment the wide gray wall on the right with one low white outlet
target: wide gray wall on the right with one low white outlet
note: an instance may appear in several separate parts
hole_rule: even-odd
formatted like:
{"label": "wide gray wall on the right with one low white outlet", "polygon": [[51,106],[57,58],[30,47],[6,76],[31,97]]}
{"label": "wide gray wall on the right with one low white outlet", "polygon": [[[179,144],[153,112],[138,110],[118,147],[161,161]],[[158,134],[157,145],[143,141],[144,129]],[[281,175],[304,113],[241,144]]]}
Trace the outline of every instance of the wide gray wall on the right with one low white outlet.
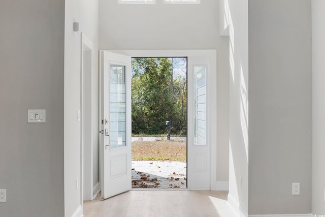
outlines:
{"label": "wide gray wall on the right with one low white outlet", "polygon": [[311,3],[248,6],[249,214],[311,213]]}

